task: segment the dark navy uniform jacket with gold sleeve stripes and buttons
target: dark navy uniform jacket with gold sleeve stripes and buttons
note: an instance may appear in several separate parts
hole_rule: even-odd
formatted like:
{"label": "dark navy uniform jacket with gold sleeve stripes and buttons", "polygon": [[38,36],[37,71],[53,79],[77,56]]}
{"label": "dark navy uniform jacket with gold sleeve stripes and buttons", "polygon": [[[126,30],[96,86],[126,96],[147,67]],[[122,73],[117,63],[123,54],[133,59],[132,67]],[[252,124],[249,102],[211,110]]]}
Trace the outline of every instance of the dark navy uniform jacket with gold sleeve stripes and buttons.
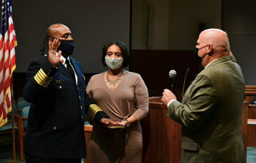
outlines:
{"label": "dark navy uniform jacket with gold sleeve stripes and buttons", "polygon": [[82,67],[70,57],[78,82],[63,63],[54,68],[48,56],[34,59],[27,70],[23,97],[32,103],[25,152],[45,158],[86,158],[84,114],[92,100]]}

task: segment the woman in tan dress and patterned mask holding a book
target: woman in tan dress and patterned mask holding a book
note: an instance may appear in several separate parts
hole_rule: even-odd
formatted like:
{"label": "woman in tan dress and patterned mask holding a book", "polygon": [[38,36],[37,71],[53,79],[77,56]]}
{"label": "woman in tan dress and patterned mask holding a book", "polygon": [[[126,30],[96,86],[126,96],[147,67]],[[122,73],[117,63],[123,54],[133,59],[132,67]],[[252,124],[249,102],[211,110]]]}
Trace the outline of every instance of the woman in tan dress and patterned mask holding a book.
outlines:
{"label": "woman in tan dress and patterned mask holding a book", "polygon": [[142,130],[139,120],[148,112],[148,92],[141,76],[124,70],[129,64],[125,44],[111,41],[102,48],[102,64],[109,70],[94,75],[87,93],[109,119],[103,124],[121,124],[124,129],[110,129],[93,124],[89,140],[90,163],[141,163]]}

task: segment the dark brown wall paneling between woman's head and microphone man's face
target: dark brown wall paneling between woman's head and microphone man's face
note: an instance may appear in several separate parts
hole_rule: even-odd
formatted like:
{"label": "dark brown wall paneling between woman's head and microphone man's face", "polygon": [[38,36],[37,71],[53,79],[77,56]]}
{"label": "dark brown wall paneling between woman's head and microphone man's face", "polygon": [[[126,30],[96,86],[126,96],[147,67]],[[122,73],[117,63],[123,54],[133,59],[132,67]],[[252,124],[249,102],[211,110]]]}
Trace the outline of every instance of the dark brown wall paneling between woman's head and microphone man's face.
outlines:
{"label": "dark brown wall paneling between woman's head and microphone man's face", "polygon": [[[173,91],[182,92],[187,68],[190,71],[186,77],[185,89],[190,81],[198,74],[198,63],[193,58],[192,51],[167,50],[132,50],[130,70],[141,75],[150,96],[162,96],[167,87],[169,71],[176,70],[177,76],[173,84]],[[153,91],[153,93],[151,93]],[[176,95],[176,94],[175,94]]]}

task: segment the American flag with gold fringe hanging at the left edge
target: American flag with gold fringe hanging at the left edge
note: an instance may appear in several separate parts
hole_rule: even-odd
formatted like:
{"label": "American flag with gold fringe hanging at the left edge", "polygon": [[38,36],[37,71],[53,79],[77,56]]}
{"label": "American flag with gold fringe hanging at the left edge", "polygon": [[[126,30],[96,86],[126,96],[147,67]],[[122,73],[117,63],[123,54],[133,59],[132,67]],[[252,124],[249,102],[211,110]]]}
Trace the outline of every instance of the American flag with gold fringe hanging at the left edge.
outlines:
{"label": "American flag with gold fringe hanging at the left edge", "polygon": [[11,0],[2,0],[0,34],[0,126],[7,122],[11,111],[11,75],[15,69],[17,40],[11,17]]}

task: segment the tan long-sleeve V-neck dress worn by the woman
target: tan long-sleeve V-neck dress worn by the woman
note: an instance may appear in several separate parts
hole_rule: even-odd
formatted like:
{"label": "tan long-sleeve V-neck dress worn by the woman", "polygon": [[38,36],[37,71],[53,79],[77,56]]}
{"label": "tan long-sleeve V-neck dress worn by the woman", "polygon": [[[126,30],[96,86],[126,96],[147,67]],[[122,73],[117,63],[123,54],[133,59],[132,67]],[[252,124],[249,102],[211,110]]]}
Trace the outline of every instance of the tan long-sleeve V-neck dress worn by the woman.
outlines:
{"label": "tan long-sleeve V-neck dress worn by the woman", "polygon": [[104,73],[94,75],[87,93],[113,121],[137,119],[128,129],[109,129],[94,122],[89,140],[90,163],[141,163],[142,130],[139,120],[148,112],[148,91],[139,74],[125,71],[119,85],[109,89]]}

